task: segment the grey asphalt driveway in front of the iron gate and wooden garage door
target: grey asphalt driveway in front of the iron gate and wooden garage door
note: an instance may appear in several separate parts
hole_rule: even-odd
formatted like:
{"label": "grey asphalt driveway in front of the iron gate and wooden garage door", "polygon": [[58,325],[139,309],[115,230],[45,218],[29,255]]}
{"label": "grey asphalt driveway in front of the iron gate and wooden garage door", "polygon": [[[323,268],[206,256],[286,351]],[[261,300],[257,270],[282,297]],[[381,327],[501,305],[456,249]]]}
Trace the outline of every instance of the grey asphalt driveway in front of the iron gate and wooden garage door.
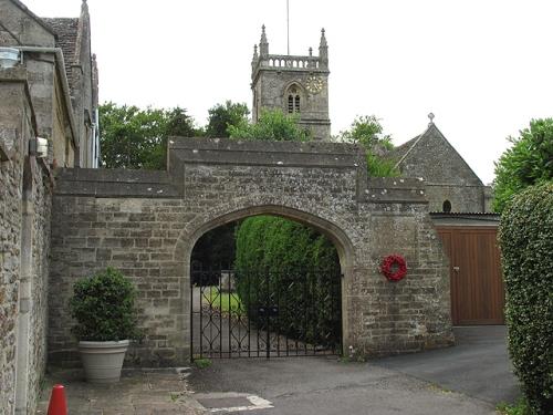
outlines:
{"label": "grey asphalt driveway in front of the iron gate and wooden garage door", "polygon": [[254,394],[274,406],[238,412],[251,415],[494,414],[498,402],[517,397],[504,328],[458,329],[456,334],[459,345],[448,350],[368,363],[216,360],[189,381],[202,398],[223,396],[215,392]]}

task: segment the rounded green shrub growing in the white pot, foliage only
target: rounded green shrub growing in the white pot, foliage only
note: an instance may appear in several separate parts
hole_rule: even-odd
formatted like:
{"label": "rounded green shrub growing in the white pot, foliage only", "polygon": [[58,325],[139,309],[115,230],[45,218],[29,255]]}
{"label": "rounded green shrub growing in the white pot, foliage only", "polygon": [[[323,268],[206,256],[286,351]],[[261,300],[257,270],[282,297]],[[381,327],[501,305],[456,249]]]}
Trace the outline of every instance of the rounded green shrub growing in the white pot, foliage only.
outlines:
{"label": "rounded green shrub growing in the white pot, foliage only", "polygon": [[83,341],[134,339],[136,330],[136,289],[114,268],[75,282],[70,299],[71,315],[76,320],[72,332]]}

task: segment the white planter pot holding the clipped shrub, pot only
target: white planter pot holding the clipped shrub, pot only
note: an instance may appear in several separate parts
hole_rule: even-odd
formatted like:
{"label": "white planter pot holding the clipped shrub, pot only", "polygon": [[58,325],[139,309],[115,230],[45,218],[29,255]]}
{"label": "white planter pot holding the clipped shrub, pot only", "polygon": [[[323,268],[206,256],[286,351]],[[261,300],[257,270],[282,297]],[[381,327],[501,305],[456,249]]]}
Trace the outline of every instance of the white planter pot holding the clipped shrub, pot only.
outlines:
{"label": "white planter pot holding the clipped shrub, pot only", "polygon": [[86,380],[92,383],[114,383],[121,378],[121,369],[128,340],[118,342],[79,342],[79,352]]}

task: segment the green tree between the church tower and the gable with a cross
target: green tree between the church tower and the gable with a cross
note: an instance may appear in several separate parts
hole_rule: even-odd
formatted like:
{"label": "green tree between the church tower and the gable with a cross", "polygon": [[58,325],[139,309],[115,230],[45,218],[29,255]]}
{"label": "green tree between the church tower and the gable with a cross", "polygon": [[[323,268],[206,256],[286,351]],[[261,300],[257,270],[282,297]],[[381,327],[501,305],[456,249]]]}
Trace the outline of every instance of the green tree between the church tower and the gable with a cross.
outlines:
{"label": "green tree between the church tower and the gable with a cross", "polygon": [[383,132],[380,120],[374,115],[363,115],[353,121],[349,129],[341,132],[338,138],[346,143],[358,144],[365,148],[369,176],[399,176],[395,162],[384,157],[386,152],[394,148],[394,145],[392,144],[392,136]]}

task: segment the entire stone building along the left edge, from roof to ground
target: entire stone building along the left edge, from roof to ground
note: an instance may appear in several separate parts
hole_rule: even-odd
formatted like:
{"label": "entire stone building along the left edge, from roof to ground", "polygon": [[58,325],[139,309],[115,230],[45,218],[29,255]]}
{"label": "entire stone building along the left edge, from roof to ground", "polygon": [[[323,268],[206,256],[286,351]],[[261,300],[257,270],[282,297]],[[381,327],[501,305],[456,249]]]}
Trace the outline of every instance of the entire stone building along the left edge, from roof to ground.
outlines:
{"label": "entire stone building along the left edge, from roof to ground", "polygon": [[[97,167],[90,17],[41,19],[0,0],[0,413],[34,413],[46,364],[56,167]],[[7,54],[14,59],[7,59]],[[39,153],[38,139],[48,141]]]}

